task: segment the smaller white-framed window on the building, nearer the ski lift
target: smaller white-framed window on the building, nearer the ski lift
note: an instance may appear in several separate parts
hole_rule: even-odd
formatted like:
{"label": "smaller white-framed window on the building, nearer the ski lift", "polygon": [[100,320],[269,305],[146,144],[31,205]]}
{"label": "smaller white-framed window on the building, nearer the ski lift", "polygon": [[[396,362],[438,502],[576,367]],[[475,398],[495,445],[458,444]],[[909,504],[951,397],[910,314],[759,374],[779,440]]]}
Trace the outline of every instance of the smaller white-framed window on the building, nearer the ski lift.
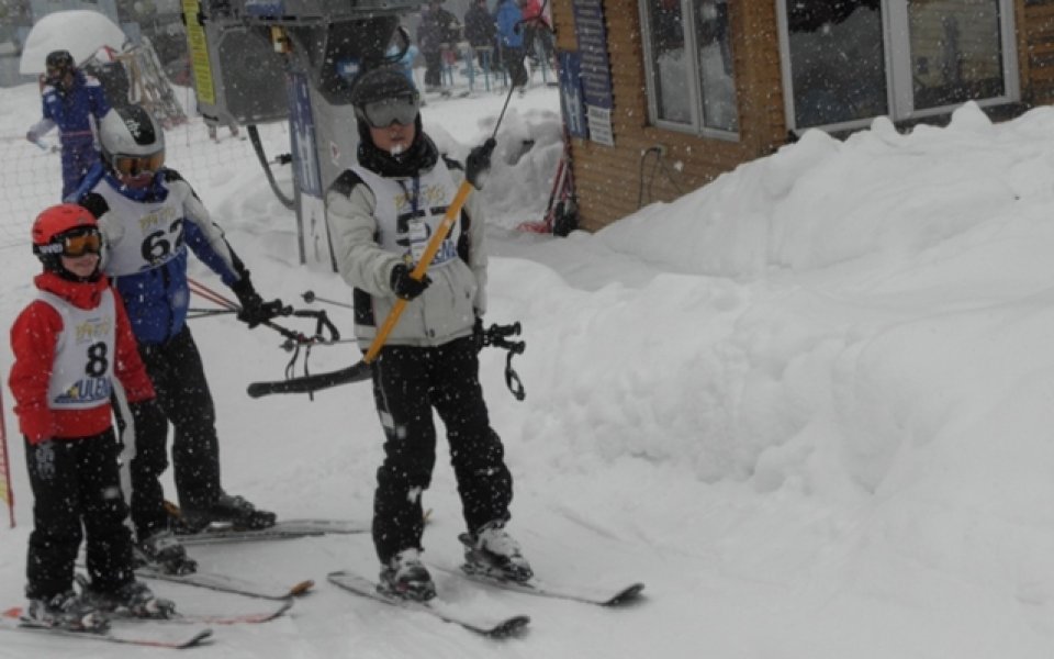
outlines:
{"label": "smaller white-framed window on the building, nearer the ski lift", "polygon": [[640,14],[652,123],[735,136],[728,0],[640,0]]}

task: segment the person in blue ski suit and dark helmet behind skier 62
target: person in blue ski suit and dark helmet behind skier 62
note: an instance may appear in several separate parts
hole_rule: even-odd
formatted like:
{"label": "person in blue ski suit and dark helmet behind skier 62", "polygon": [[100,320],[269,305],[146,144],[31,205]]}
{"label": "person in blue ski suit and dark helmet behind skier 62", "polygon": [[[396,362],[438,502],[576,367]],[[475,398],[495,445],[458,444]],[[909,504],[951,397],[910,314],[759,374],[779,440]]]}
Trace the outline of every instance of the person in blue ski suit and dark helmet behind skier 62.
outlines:
{"label": "person in blue ski suit and dark helmet behind skier 62", "polygon": [[44,118],[33,124],[25,138],[40,144],[41,137],[58,126],[65,200],[99,160],[91,118],[98,124],[110,112],[110,103],[99,80],[78,69],[68,51],[53,51],[45,64]]}

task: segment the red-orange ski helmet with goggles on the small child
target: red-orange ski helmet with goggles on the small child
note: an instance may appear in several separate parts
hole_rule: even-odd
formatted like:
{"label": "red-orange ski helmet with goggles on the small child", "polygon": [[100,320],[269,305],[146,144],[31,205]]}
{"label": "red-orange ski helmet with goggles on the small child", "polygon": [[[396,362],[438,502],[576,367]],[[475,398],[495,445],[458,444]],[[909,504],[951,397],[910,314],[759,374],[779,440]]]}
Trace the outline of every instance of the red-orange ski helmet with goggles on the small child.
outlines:
{"label": "red-orange ski helmet with goggles on the small child", "polygon": [[67,279],[79,278],[63,267],[64,255],[99,254],[102,247],[94,215],[76,203],[44,209],[33,222],[32,236],[33,254],[41,259],[44,269]]}

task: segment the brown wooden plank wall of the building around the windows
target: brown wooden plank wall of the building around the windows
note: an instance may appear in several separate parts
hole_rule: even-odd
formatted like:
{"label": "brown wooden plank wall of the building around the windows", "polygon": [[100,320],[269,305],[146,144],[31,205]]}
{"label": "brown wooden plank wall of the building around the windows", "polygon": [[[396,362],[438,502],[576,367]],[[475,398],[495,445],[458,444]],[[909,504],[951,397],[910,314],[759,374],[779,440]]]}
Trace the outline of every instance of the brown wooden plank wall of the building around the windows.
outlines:
{"label": "brown wooden plank wall of the building around the windows", "polygon": [[[739,141],[731,142],[648,125],[638,1],[604,0],[615,146],[572,139],[582,228],[596,231],[642,204],[672,201],[786,144],[777,1],[728,2],[740,126]],[[550,2],[558,48],[576,49],[571,0]],[[1054,102],[1054,0],[1016,0],[1014,13],[1022,101]],[[663,163],[654,153],[646,159],[659,145]]]}

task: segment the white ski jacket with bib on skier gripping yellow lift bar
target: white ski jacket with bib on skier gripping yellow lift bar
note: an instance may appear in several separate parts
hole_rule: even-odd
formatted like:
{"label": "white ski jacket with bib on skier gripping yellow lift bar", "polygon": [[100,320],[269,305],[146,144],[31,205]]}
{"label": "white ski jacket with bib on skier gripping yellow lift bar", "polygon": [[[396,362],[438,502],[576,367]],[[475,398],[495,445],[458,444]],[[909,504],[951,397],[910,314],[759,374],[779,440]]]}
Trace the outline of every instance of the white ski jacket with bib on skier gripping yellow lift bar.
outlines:
{"label": "white ski jacket with bib on skier gripping yellow lift bar", "polygon": [[[462,180],[439,158],[416,182],[355,166],[330,186],[329,236],[340,276],[355,287],[355,335],[363,350],[395,303],[392,270],[400,263],[414,268]],[[486,312],[485,219],[476,199],[469,196],[428,267],[431,286],[408,302],[385,345],[441,346],[471,335],[475,316]]]}

